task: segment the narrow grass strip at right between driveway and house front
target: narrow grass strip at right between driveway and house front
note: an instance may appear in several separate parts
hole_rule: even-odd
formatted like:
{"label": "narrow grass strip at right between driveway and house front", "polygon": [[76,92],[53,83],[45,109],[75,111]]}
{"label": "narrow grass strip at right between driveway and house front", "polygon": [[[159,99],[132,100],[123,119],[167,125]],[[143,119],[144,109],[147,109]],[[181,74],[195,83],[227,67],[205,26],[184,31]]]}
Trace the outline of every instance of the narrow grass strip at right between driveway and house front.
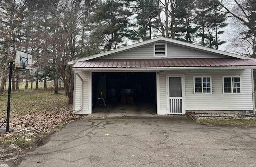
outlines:
{"label": "narrow grass strip at right between driveway and house front", "polygon": [[256,120],[253,119],[200,119],[196,120],[200,124],[204,125],[231,125],[231,126],[256,126]]}

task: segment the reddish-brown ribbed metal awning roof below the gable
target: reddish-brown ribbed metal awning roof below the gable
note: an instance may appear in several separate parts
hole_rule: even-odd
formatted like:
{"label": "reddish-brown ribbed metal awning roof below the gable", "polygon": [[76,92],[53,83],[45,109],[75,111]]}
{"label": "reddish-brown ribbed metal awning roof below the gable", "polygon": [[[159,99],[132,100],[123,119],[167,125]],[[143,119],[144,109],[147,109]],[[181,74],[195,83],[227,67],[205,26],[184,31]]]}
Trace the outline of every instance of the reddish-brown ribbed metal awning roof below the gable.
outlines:
{"label": "reddish-brown ribbed metal awning roof below the gable", "polygon": [[252,59],[198,58],[198,59],[105,59],[77,61],[73,68],[145,68],[145,67],[241,67],[256,66]]}

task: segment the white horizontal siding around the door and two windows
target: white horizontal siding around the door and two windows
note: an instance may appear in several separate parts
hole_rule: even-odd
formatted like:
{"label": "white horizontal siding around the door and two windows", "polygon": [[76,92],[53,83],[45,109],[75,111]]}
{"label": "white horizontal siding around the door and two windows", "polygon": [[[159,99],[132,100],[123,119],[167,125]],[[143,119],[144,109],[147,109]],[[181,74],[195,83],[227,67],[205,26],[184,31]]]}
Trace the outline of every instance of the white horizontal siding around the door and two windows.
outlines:
{"label": "white horizontal siding around the door and two windows", "polygon": [[[174,71],[159,74],[160,78],[160,110],[166,110],[166,75],[185,76],[185,109],[186,110],[226,110],[226,111],[252,111],[252,78],[250,69],[238,70],[202,70],[202,71]],[[240,94],[223,94],[222,77],[240,76]],[[193,76],[208,77],[212,79],[212,94],[194,94]],[[165,97],[165,99],[164,99]],[[166,112],[167,113],[167,112]]]}

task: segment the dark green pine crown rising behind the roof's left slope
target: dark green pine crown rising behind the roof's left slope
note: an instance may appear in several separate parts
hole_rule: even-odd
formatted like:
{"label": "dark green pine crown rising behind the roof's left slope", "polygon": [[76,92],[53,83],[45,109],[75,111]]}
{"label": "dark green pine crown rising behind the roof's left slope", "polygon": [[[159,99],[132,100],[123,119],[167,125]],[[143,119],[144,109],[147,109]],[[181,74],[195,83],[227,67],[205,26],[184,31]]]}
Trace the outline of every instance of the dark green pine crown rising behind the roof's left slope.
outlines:
{"label": "dark green pine crown rising behind the roof's left slope", "polygon": [[[90,24],[94,29],[92,36],[100,39],[107,51],[116,49],[119,43],[124,43],[124,37],[131,36],[129,17],[132,12],[128,10],[123,1],[107,0],[98,3]],[[100,44],[99,44],[100,45]]]}

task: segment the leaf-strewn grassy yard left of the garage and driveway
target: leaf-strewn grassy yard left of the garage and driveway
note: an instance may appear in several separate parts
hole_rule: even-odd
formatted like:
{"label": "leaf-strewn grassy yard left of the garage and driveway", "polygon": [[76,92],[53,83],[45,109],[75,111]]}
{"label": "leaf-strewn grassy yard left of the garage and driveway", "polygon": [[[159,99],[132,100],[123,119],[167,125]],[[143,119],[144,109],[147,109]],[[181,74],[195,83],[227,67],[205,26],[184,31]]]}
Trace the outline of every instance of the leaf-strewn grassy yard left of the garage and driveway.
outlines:
{"label": "leaf-strewn grassy yard left of the garage and driveway", "polygon": [[[12,141],[19,136],[25,141],[32,141],[37,134],[48,134],[53,129],[83,118],[71,113],[73,108],[67,100],[64,93],[55,95],[52,91],[13,92],[9,124],[13,132],[0,133],[0,137]],[[7,96],[1,96],[0,120],[6,118],[6,102]],[[5,129],[6,123],[1,128]]]}

